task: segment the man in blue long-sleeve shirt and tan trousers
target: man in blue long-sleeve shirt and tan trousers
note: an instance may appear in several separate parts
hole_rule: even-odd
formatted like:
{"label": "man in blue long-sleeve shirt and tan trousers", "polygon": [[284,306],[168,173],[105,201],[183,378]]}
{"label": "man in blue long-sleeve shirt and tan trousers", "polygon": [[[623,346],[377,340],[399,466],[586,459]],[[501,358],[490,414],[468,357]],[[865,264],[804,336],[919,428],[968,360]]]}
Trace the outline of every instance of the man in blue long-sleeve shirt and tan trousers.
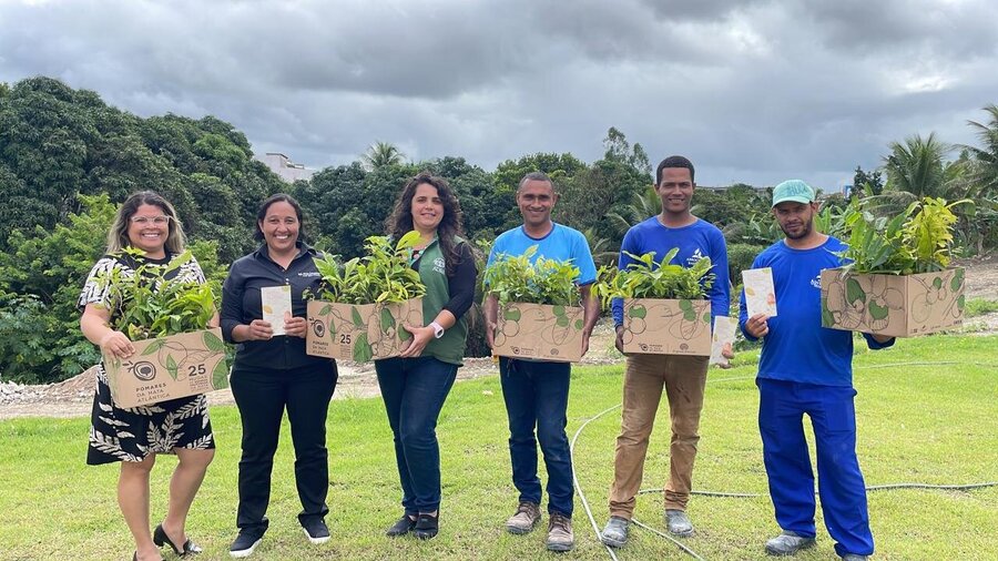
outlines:
{"label": "man in blue long-sleeve shirt and tan trousers", "polygon": [[[662,213],[637,224],[624,235],[620,248],[620,269],[634,262],[628,253],[642,255],[654,252],[655,261],[661,262],[666,253],[678,248],[672,263],[684,267],[710,257],[713,266],[711,273],[714,275],[707,293],[711,316],[726,316],[731,299],[727,247],[716,226],[690,212],[695,188],[693,173],[693,164],[683,156],[670,156],[659,164],[655,192],[662,198]],[[622,351],[623,302],[620,299],[613,303],[613,323],[617,326],[617,348]],[[622,547],[628,540],[628,527],[644,471],[648,440],[663,388],[672,420],[670,476],[665,486],[666,526],[670,532],[678,536],[693,533],[693,524],[685,510],[700,440],[700,411],[703,409],[707,359],[678,355],[628,356],[614,478],[610,489],[610,521],[601,533],[603,543]]]}

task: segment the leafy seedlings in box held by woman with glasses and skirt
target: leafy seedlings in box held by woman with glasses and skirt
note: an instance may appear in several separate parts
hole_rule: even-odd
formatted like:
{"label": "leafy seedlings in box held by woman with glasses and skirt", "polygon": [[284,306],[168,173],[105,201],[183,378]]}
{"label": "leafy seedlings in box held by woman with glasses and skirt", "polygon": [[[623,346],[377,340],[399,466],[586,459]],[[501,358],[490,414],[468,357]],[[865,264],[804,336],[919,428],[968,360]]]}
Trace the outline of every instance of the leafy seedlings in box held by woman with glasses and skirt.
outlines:
{"label": "leafy seedlings in box held by woman with glasses and skirt", "polygon": [[145,263],[141,249],[130,247],[123,253],[139,263],[134,274],[114,268],[98,279],[102,287],[109,289],[113,308],[111,322],[115,329],[125,333],[132,340],[139,340],[195,332],[207,326],[215,314],[212,285],[166,278],[191,261],[190,251],[165,266]]}

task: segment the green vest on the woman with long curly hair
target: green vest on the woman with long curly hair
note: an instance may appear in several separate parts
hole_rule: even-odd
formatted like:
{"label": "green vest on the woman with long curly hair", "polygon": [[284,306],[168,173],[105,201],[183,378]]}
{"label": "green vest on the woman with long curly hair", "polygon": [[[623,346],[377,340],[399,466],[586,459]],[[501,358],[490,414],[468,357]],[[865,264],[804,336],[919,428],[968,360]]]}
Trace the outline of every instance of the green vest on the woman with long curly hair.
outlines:
{"label": "green vest on the woman with long curly hair", "polygon": [[[464,243],[466,242],[460,237],[455,238],[456,245]],[[426,285],[426,295],[422,296],[422,322],[424,325],[429,325],[450,300],[450,283],[447,282],[444,252],[440,251],[440,244],[436,239],[424,249],[419,258],[419,279]],[[444,336],[439,339],[431,339],[422,349],[422,356],[462,366],[465,339],[468,337],[467,317],[468,314],[465,314],[458,318],[458,322],[444,332]]]}

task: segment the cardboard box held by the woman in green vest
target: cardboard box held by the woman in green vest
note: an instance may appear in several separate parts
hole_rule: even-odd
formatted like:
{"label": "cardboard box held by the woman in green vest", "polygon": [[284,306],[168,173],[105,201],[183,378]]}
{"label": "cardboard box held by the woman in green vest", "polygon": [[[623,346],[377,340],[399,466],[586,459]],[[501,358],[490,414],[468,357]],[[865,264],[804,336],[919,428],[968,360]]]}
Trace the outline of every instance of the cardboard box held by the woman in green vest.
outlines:
{"label": "cardboard box held by the woman in green vest", "polygon": [[413,335],[404,324],[422,325],[422,298],[393,304],[307,305],[305,353],[325,358],[367,363],[398,356]]}

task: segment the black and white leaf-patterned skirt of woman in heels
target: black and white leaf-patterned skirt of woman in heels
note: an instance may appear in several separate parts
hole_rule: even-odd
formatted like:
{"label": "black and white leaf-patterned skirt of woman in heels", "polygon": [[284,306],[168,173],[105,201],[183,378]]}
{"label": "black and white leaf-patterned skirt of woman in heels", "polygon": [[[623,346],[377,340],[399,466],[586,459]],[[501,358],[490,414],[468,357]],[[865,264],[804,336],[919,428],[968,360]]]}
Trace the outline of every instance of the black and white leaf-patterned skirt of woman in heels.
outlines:
{"label": "black and white leaf-patterned skirt of woman in heels", "polygon": [[204,394],[147,406],[121,409],[100,365],[91,414],[86,463],[142,461],[150,453],[175,453],[176,448],[215,447]]}

